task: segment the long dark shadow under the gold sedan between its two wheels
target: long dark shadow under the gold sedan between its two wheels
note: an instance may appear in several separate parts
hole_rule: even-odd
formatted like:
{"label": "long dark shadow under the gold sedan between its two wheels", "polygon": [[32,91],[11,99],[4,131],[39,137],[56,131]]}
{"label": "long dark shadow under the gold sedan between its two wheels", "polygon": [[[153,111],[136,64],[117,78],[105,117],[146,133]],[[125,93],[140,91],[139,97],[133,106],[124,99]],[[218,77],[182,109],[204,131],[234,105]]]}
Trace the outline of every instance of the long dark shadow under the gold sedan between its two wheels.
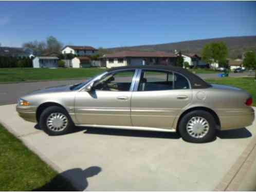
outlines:
{"label": "long dark shadow under the gold sedan between its two wheels", "polygon": [[148,137],[148,138],[162,138],[162,139],[179,139],[177,133],[172,132],[157,132],[157,131],[141,131],[141,130],[122,130],[122,129],[105,129],[96,127],[86,127],[85,134],[98,135],[114,135],[126,137]]}

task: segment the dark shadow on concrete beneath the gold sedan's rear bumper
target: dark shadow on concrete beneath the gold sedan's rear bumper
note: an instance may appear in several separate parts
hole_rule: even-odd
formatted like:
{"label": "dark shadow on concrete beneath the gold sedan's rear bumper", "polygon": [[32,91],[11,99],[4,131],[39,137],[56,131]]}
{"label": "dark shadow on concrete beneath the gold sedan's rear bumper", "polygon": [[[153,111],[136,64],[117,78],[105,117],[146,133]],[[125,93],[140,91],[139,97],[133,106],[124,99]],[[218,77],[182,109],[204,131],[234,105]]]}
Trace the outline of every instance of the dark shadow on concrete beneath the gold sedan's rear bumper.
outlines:
{"label": "dark shadow on concrete beneath the gold sedan's rear bumper", "polygon": [[252,134],[245,127],[235,130],[218,131],[217,137],[220,139],[243,139],[251,137]]}

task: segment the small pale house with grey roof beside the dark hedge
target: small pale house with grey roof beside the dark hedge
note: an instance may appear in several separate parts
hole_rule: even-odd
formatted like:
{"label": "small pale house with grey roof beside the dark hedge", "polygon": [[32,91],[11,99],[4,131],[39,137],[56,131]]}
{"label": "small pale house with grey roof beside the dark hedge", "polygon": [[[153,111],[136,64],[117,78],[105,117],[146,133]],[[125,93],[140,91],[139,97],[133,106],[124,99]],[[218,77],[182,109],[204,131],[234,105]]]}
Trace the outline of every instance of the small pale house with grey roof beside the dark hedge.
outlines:
{"label": "small pale house with grey roof beside the dark hedge", "polygon": [[55,56],[38,56],[33,59],[33,68],[57,68],[58,60]]}

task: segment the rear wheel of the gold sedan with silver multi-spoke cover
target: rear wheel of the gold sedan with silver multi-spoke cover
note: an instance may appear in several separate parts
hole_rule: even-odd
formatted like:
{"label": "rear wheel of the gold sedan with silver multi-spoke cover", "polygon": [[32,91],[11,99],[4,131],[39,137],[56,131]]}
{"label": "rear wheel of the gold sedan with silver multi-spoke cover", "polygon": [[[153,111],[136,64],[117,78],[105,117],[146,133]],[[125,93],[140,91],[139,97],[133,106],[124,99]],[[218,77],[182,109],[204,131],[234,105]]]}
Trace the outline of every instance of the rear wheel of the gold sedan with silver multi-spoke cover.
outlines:
{"label": "rear wheel of the gold sedan with silver multi-spoke cover", "polygon": [[193,143],[210,142],[216,138],[216,122],[213,116],[203,110],[187,113],[178,124],[183,140]]}

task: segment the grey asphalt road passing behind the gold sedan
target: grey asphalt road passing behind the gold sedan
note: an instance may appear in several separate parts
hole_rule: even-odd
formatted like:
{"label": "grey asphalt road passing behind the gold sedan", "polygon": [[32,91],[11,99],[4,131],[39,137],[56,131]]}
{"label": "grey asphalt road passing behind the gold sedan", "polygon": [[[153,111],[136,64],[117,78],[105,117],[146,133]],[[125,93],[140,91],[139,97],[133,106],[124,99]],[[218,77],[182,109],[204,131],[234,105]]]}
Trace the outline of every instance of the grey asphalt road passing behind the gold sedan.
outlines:
{"label": "grey asphalt road passing behind the gold sedan", "polygon": [[[246,76],[249,73],[230,73],[231,77]],[[198,74],[203,79],[218,78],[217,74]],[[59,81],[41,81],[41,82],[20,82],[0,84],[0,104],[16,103],[17,99],[34,90],[44,89],[47,87],[61,86],[64,84],[76,84],[84,81],[78,80],[59,80]]]}

